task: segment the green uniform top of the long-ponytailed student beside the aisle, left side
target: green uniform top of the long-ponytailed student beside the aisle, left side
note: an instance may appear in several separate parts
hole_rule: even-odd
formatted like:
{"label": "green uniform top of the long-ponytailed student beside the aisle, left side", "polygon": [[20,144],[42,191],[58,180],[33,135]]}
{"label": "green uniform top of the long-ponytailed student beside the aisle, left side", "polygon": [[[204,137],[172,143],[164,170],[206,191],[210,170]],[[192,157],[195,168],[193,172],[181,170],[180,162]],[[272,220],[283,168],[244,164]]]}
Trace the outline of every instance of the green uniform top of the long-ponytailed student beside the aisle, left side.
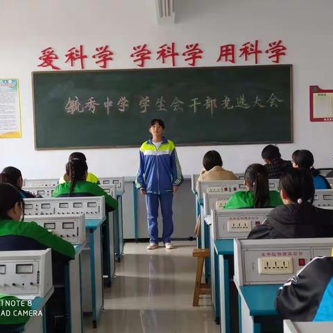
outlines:
{"label": "green uniform top of the long-ponytailed student beside the aisle, left side", "polygon": [[[52,196],[57,197],[68,197],[69,189],[71,188],[70,182],[64,182],[59,184],[56,189],[53,191]],[[104,196],[105,205],[108,212],[112,210],[117,210],[118,202],[112,196],[109,196],[99,185],[94,182],[87,182],[86,180],[79,180],[75,183],[72,196]]]}

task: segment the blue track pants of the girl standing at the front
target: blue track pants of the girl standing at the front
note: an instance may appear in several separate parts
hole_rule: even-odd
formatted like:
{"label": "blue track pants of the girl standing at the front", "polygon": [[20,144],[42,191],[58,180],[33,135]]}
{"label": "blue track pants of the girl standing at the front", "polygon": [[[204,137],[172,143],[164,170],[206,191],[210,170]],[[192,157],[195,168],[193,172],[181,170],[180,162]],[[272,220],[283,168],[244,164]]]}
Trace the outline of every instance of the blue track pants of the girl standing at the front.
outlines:
{"label": "blue track pants of the girl standing at the front", "polygon": [[146,206],[148,217],[148,232],[151,237],[151,243],[158,244],[158,204],[161,203],[161,212],[163,219],[163,234],[162,240],[165,243],[170,242],[171,234],[173,233],[173,221],[172,221],[172,199],[173,193],[165,194],[146,194]]}

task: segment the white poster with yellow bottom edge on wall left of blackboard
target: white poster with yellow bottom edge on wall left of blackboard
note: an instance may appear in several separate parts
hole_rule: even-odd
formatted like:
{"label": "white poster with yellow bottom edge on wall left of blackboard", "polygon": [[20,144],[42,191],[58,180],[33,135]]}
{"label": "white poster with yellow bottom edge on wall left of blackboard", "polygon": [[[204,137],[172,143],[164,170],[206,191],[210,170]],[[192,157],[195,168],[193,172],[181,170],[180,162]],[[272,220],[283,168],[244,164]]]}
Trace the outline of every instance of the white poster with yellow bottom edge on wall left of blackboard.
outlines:
{"label": "white poster with yellow bottom edge on wall left of blackboard", "polygon": [[22,137],[19,80],[0,78],[0,138]]}

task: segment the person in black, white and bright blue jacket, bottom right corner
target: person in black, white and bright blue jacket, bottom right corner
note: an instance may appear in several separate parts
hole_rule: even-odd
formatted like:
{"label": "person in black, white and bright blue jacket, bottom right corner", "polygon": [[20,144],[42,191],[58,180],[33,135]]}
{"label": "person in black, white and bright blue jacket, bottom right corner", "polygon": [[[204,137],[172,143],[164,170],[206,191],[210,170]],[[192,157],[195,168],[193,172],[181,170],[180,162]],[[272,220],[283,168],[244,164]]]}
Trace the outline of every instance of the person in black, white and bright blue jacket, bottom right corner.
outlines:
{"label": "person in black, white and bright blue jacket, bottom right corner", "polygon": [[333,257],[316,257],[289,279],[275,307],[291,321],[333,321]]}

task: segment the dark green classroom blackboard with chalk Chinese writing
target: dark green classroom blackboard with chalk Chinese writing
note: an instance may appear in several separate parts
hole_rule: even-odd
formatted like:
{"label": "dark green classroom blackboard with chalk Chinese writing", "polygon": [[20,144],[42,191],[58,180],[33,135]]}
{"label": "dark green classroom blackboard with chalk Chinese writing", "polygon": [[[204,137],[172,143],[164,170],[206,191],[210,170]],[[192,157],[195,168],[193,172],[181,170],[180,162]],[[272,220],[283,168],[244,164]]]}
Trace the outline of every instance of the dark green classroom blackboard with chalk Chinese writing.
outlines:
{"label": "dark green classroom blackboard with chalk Chinese writing", "polygon": [[33,72],[35,148],[292,142],[291,65]]}

